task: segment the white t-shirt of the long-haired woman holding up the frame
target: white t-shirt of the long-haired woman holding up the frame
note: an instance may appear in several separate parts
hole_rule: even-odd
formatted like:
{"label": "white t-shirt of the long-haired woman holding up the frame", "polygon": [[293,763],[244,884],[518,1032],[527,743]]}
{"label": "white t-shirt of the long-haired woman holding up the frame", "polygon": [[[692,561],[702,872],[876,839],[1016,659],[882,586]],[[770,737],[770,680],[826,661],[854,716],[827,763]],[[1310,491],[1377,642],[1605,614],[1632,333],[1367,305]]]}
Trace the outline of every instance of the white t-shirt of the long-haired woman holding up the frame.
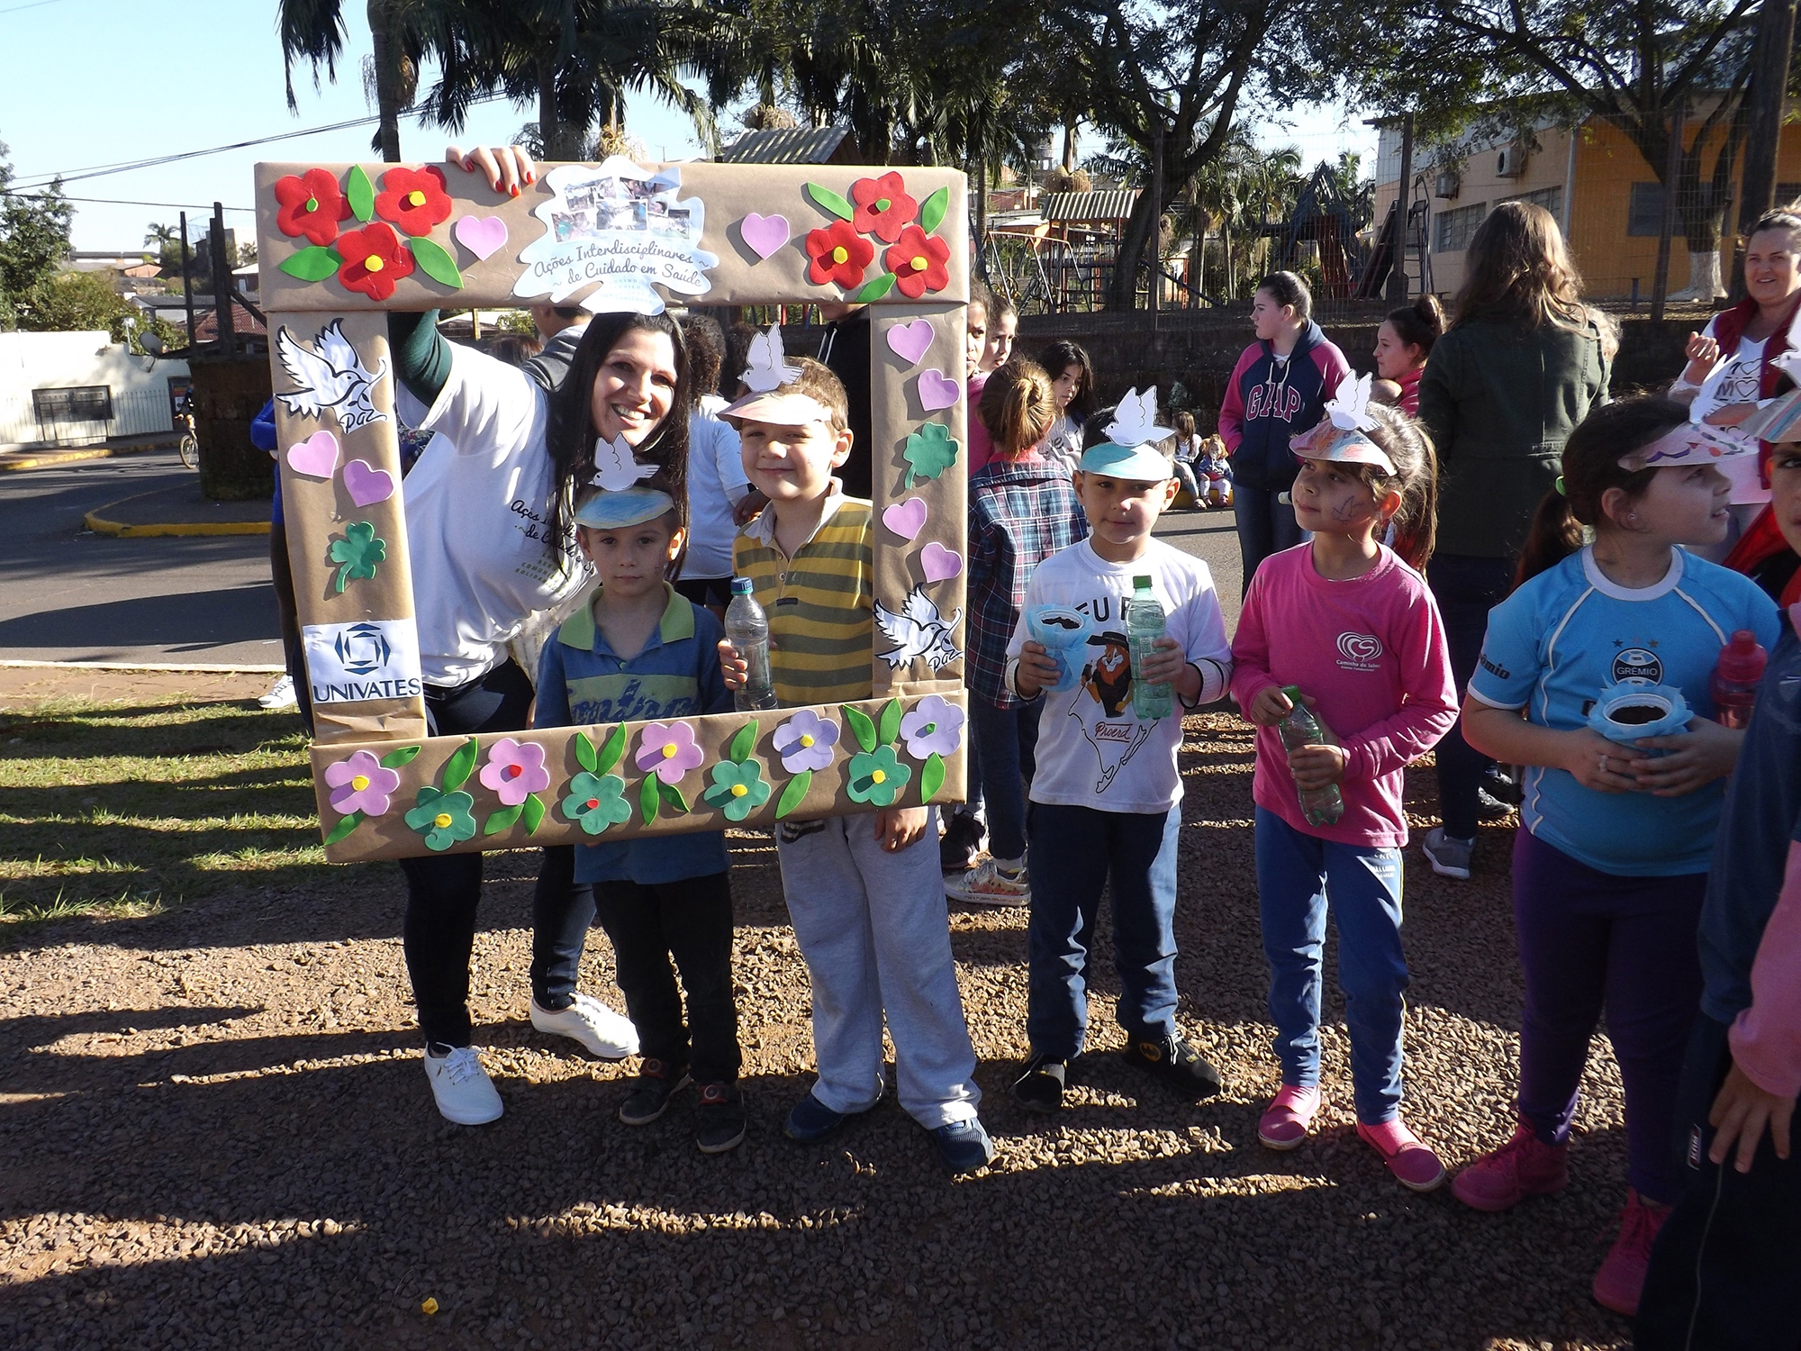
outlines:
{"label": "white t-shirt of the long-haired woman holding up the frame", "polygon": [[[450,346],[450,376],[427,409],[400,389],[398,413],[448,445],[403,481],[420,670],[454,688],[506,661],[506,641],[589,580],[571,530],[544,542],[555,477],[549,400],[529,375],[474,348]],[[535,674],[535,672],[533,672]]]}

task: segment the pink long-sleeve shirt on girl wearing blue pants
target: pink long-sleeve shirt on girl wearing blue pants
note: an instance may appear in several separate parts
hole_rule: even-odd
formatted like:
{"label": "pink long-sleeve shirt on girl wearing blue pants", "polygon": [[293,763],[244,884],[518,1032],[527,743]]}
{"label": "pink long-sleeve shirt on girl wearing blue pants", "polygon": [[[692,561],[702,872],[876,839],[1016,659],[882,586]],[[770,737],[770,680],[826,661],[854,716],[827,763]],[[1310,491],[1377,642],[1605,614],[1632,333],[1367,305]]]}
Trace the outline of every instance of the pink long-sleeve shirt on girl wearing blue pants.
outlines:
{"label": "pink long-sleeve shirt on girl wearing blue pants", "polygon": [[1344,816],[1309,825],[1281,733],[1257,728],[1257,805],[1322,839],[1407,845],[1401,771],[1457,721],[1444,620],[1426,580],[1387,548],[1349,582],[1320,576],[1311,544],[1284,549],[1257,567],[1232,661],[1239,708],[1272,685],[1299,685],[1347,757],[1338,784]]}

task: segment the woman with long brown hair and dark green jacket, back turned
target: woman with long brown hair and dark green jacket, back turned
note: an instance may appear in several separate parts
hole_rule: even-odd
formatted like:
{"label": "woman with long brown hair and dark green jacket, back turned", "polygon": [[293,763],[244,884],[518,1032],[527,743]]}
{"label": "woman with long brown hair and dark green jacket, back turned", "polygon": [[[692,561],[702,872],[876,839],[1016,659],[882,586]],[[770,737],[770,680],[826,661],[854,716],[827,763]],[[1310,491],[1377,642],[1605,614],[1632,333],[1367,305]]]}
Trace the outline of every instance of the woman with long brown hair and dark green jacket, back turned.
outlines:
{"label": "woman with long brown hair and dark green jacket, back turned", "polygon": [[[1419,376],[1419,418],[1439,452],[1439,548],[1426,567],[1444,614],[1457,695],[1482,654],[1488,612],[1513,589],[1533,510],[1556,486],[1563,441],[1606,402],[1612,344],[1581,303],[1563,234],[1543,207],[1502,202],[1464,254],[1457,317]],[[1432,870],[1470,875],[1489,762],[1462,724],[1439,742]]]}

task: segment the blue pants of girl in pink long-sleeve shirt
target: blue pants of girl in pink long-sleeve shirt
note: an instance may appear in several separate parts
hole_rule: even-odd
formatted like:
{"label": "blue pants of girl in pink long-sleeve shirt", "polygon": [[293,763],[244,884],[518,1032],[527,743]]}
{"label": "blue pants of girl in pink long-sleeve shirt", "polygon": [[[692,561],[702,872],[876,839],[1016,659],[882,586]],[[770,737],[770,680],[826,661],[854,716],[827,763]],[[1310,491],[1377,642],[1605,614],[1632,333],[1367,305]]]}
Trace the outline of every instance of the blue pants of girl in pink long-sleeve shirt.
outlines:
{"label": "blue pants of girl in pink long-sleeve shirt", "polygon": [[1326,904],[1338,917],[1338,987],[1351,1032],[1356,1119],[1392,1120],[1401,1106],[1401,850],[1340,845],[1257,809],[1257,893],[1270,958],[1270,1021],[1282,1083],[1320,1081],[1320,957]]}

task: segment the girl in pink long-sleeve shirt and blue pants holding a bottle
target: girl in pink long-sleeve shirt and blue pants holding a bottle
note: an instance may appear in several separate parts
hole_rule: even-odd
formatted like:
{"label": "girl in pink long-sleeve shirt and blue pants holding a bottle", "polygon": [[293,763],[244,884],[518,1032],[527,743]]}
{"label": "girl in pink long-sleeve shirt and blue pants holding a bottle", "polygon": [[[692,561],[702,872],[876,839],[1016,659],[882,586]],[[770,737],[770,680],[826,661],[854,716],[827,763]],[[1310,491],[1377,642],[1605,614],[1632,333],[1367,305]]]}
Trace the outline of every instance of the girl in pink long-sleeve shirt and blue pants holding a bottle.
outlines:
{"label": "girl in pink long-sleeve shirt and blue pants holding a bottle", "polygon": [[[1313,539],[1257,569],[1232,643],[1232,694],[1257,724],[1257,892],[1282,1063],[1257,1137],[1293,1149],[1320,1106],[1331,902],[1358,1135],[1405,1187],[1432,1191],[1444,1165],[1399,1115],[1401,775],[1457,717],[1444,621],[1417,571],[1432,555],[1437,465],[1412,418],[1369,403],[1369,376],[1326,411],[1293,443],[1295,519]],[[1380,542],[1390,524],[1405,558]],[[1282,686],[1300,690],[1326,744],[1284,749],[1279,724],[1293,704]],[[1300,791],[1333,787],[1342,814],[1309,820]]]}

